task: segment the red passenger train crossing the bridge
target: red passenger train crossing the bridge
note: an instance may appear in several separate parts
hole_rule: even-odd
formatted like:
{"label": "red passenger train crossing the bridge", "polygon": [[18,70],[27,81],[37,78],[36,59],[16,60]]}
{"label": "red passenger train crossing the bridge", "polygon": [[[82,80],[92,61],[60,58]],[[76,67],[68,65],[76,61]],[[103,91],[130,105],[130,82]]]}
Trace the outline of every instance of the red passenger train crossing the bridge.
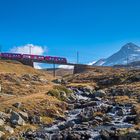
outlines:
{"label": "red passenger train crossing the bridge", "polygon": [[18,54],[18,53],[0,53],[0,57],[3,59],[12,60],[34,60],[34,61],[47,61],[49,63],[67,63],[66,58],[62,57],[52,57],[52,56],[41,56],[41,55],[30,55],[30,54]]}

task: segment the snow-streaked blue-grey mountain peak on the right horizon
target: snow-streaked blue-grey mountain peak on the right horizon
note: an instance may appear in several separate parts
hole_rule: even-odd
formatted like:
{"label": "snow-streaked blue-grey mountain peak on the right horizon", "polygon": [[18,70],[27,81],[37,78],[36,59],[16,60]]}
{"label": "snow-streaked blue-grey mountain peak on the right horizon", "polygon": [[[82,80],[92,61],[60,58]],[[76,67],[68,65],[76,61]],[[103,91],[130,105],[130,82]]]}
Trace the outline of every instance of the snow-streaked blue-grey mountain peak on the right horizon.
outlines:
{"label": "snow-streaked blue-grey mountain peak on the right horizon", "polygon": [[140,61],[140,47],[133,44],[127,43],[118,52],[114,53],[107,59],[100,59],[94,65],[96,66],[114,66],[114,65],[125,65]]}

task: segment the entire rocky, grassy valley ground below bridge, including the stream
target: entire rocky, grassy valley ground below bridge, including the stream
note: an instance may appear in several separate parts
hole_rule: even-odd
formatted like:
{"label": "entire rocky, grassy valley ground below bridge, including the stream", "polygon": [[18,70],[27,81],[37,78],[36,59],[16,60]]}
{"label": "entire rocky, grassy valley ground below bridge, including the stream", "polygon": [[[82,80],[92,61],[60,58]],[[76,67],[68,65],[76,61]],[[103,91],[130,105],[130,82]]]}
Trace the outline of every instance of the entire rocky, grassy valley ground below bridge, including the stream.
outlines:
{"label": "entire rocky, grassy valley ground below bridge, including the stream", "polygon": [[53,78],[19,62],[0,66],[2,140],[140,138],[139,70],[93,67]]}

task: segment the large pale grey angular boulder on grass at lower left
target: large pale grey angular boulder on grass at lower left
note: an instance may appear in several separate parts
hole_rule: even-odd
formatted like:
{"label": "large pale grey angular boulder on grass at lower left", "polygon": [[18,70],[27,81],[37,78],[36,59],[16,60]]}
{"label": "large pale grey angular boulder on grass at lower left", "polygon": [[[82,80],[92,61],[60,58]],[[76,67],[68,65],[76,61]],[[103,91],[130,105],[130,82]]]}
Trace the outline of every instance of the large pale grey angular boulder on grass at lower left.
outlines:
{"label": "large pale grey angular boulder on grass at lower left", "polygon": [[13,125],[25,125],[25,121],[21,118],[21,116],[13,111],[11,113],[11,117],[10,117],[10,122],[13,124]]}

